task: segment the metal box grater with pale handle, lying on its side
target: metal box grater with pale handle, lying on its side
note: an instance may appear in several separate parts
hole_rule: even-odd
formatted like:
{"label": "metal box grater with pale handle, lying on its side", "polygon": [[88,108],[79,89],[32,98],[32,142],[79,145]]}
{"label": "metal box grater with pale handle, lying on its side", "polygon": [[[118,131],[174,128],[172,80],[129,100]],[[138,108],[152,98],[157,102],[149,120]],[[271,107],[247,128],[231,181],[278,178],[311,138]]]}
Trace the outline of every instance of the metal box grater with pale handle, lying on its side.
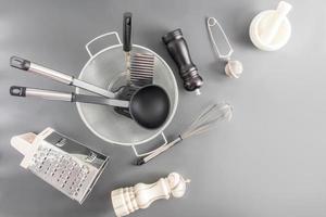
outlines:
{"label": "metal box grater with pale handle, lying on its side", "polygon": [[90,193],[109,157],[47,128],[39,135],[13,137],[11,144],[24,154],[21,166],[80,204]]}

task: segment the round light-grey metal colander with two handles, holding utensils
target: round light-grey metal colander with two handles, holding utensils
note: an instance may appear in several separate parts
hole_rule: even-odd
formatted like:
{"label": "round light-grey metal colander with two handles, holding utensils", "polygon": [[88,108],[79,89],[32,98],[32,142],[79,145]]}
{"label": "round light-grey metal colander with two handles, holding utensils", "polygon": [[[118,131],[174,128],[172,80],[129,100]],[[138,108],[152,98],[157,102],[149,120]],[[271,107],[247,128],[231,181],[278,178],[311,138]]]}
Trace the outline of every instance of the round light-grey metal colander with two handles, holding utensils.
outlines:
{"label": "round light-grey metal colander with two handles, holding utensils", "polygon": [[[108,47],[96,54],[89,51],[89,44],[95,40],[115,35],[118,43]],[[114,90],[126,84],[125,54],[121,40],[116,33],[104,34],[86,44],[90,54],[89,61],[85,64],[79,79],[95,84],[99,87]],[[134,44],[133,52],[152,53],[155,56],[153,84],[159,85],[167,92],[171,101],[170,114],[162,127],[153,130],[145,129],[136,122],[114,112],[112,106],[77,103],[78,113],[85,125],[99,138],[114,144],[137,145],[154,139],[172,122],[178,103],[178,89],[172,69],[165,61],[150,49]],[[77,88],[77,93],[87,93]]]}

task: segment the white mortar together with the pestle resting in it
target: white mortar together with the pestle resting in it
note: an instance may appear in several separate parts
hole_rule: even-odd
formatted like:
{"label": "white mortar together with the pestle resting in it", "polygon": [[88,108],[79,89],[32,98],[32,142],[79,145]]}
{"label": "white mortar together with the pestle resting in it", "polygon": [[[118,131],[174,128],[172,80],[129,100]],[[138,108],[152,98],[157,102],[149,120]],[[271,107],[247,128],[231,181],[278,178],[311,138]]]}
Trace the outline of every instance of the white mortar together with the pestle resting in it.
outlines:
{"label": "white mortar together with the pestle resting in it", "polygon": [[259,13],[251,22],[249,35],[252,43],[264,51],[283,48],[291,37],[291,24],[287,14],[292,5],[280,1],[276,10]]}

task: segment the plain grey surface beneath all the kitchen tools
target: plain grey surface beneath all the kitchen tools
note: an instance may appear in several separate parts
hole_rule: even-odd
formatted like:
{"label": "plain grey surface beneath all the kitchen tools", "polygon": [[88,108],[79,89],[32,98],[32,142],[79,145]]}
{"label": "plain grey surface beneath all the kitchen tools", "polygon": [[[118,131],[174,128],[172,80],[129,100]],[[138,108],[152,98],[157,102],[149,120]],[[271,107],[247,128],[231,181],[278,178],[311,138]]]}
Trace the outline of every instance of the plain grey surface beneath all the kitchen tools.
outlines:
{"label": "plain grey surface beneath all the kitchen tools", "polygon": [[[249,39],[251,18],[274,0],[1,0],[0,7],[0,216],[114,216],[109,193],[178,171],[190,183],[185,197],[160,201],[133,216],[326,216],[326,1],[293,1],[292,37],[277,52]],[[176,67],[161,36],[181,27],[204,77],[202,95],[180,88],[170,137],[211,102],[228,101],[234,119],[184,141],[154,162],[136,167],[133,150],[108,144],[83,124],[74,105],[9,95],[11,85],[72,90],[11,68],[25,56],[77,76],[88,60],[85,43],[103,33],[122,34],[122,14],[134,13],[134,42]],[[224,26],[244,73],[223,75],[205,28],[205,16]],[[110,122],[110,120],[108,120]],[[83,206],[18,166],[12,136],[51,126],[109,154],[111,164]]]}

